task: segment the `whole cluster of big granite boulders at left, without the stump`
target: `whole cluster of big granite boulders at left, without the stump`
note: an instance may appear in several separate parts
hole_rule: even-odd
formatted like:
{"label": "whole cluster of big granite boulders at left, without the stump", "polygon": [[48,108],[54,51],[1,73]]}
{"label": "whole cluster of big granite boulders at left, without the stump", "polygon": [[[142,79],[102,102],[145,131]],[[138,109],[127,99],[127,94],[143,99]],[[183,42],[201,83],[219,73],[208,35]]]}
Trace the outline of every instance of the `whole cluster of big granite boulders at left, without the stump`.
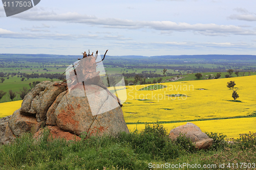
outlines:
{"label": "whole cluster of big granite boulders at left, without the stump", "polygon": [[92,136],[129,133],[117,99],[97,85],[80,84],[69,92],[62,82],[41,82],[25,96],[20,109],[0,119],[0,143],[26,132],[37,138],[46,126],[54,138],[67,140],[80,140],[83,132]]}

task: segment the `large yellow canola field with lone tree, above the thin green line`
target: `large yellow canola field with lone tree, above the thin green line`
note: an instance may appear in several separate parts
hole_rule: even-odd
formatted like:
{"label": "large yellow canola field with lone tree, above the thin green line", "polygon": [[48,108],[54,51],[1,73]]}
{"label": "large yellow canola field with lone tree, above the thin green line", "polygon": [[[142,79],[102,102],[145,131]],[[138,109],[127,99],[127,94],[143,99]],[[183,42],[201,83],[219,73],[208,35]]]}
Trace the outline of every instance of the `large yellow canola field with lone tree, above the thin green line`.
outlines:
{"label": "large yellow canola field with lone tree, above the thin green line", "polygon": [[[229,81],[235,81],[235,87],[239,87],[240,97],[237,100],[242,103],[228,101],[233,100],[232,90],[226,86]],[[126,123],[198,120],[256,113],[256,76],[161,84],[167,87],[142,91],[139,89],[148,85],[127,86],[127,100],[122,107]],[[184,96],[168,96],[171,94]]]}

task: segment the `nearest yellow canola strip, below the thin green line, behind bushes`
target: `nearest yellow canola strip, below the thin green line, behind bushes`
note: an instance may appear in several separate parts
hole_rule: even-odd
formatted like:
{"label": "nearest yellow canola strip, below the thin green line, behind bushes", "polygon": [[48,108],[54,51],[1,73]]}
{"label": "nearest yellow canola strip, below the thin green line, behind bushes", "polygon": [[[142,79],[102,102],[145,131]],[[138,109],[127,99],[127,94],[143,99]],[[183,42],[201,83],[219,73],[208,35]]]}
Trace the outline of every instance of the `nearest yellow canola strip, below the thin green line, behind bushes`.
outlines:
{"label": "nearest yellow canola strip, below the thin green line, behind bushes", "polygon": [[[185,125],[187,122],[163,124],[164,128],[169,133],[170,130],[181,125]],[[214,132],[223,133],[227,135],[226,138],[239,138],[239,134],[249,133],[249,131],[256,133],[256,117],[246,118],[232,118],[221,120],[204,120],[191,122],[202,130],[202,132]],[[138,129],[139,131],[145,128],[144,124],[132,124],[127,125],[130,131]]]}

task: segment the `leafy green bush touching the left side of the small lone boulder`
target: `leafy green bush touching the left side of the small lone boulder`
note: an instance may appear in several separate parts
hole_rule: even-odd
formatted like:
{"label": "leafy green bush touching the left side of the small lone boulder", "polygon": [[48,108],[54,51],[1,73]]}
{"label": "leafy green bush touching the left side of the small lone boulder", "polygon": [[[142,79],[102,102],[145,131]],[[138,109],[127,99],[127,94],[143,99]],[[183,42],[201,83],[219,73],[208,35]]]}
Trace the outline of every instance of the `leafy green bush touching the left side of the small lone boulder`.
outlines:
{"label": "leafy green bush touching the left side of the small lone boulder", "polygon": [[145,159],[169,160],[179,156],[179,145],[168,138],[163,125],[146,124],[142,131],[135,130],[130,134],[120,133],[119,141],[129,142],[136,154]]}

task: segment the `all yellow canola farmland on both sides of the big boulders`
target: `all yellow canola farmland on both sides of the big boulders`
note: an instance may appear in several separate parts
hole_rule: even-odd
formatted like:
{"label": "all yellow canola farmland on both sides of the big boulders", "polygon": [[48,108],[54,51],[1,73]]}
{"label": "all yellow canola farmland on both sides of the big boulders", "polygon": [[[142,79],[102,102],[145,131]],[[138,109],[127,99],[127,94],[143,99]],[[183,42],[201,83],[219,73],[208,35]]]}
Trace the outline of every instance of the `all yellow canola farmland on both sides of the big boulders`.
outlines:
{"label": "all yellow canola farmland on both sides of the big boulders", "polygon": [[[235,81],[239,87],[237,101],[240,102],[233,101],[232,90],[226,87],[228,81]],[[256,130],[255,83],[256,76],[246,76],[161,83],[163,86],[155,87],[154,84],[127,86],[118,92],[126,91],[122,110],[131,131],[143,129],[143,123],[157,120],[168,130],[193,122],[202,131],[224,133],[231,138]],[[4,104],[9,103],[0,107],[4,108]],[[15,107],[18,109],[20,102],[15,103]],[[0,111],[2,115],[8,114]]]}

